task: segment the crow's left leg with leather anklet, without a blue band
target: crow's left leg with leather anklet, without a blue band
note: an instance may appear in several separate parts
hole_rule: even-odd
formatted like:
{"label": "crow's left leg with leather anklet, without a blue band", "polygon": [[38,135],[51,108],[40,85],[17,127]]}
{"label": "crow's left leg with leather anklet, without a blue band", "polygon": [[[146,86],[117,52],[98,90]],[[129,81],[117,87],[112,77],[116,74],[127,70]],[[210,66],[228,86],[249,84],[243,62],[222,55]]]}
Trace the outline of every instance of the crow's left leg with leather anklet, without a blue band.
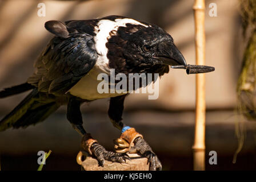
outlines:
{"label": "crow's left leg with leather anklet, without a blue band", "polygon": [[82,114],[80,111],[80,105],[82,101],[76,97],[70,97],[67,104],[67,119],[79,134],[83,136],[82,147],[89,152],[89,154],[96,156],[99,164],[104,166],[105,160],[111,162],[125,163],[125,160],[130,160],[127,154],[115,153],[107,151],[102,147],[97,140],[91,137],[91,134],[86,133],[82,124]]}

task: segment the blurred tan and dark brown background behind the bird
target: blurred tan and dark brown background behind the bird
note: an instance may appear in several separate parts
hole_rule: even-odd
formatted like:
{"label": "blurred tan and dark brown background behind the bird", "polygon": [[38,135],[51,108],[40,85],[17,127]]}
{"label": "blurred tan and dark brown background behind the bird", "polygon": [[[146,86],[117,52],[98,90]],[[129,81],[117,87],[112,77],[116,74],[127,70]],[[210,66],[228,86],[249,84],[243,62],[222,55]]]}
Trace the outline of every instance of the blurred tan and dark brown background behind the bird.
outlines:
{"label": "blurred tan and dark brown background behind the bird", "polygon": [[[38,3],[45,3],[46,16],[39,17]],[[209,16],[209,4],[217,4],[217,17]],[[0,88],[25,82],[33,73],[33,63],[53,37],[43,24],[47,20],[93,19],[106,15],[124,15],[164,28],[185,56],[195,64],[192,0],[95,0],[95,1],[0,1]],[[245,42],[242,39],[239,2],[206,1],[206,64],[215,72],[206,74],[206,169],[256,169],[256,123],[245,122],[246,138],[237,163],[234,112],[236,84]],[[193,169],[191,146],[194,137],[195,76],[171,70],[159,82],[158,100],[147,94],[130,95],[125,102],[124,122],[142,133],[162,160],[163,169]],[[25,96],[0,101],[0,118]],[[108,100],[85,104],[84,126],[109,150],[119,137],[107,117]],[[75,156],[81,138],[67,122],[61,107],[45,122],[26,130],[0,133],[2,170],[35,170],[37,152],[52,150],[45,169],[79,170]],[[217,151],[218,164],[208,163],[209,151]]]}

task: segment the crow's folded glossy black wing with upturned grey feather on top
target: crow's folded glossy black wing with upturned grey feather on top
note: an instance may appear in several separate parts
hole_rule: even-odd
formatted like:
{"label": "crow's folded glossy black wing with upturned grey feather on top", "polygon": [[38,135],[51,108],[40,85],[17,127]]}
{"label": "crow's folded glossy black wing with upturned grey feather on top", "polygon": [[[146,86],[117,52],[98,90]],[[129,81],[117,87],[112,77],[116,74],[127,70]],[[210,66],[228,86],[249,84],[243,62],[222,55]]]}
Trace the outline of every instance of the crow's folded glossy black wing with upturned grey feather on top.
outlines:
{"label": "crow's folded glossy black wing with upturned grey feather on top", "polygon": [[93,35],[75,29],[86,22],[75,22],[73,27],[58,21],[46,22],[46,29],[56,36],[35,62],[36,70],[27,80],[39,92],[65,94],[94,67],[98,55]]}

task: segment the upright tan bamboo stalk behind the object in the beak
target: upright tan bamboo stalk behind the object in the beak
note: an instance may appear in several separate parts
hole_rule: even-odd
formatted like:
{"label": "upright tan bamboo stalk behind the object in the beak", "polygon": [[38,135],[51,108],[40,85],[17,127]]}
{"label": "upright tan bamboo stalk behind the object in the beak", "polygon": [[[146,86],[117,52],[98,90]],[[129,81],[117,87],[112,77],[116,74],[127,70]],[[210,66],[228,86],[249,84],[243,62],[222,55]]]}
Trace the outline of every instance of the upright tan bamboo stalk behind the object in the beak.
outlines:
{"label": "upright tan bamboo stalk behind the object in the beak", "polygon": [[[195,0],[196,64],[205,65],[205,0]],[[196,75],[195,136],[193,145],[194,170],[205,170],[205,74]]]}

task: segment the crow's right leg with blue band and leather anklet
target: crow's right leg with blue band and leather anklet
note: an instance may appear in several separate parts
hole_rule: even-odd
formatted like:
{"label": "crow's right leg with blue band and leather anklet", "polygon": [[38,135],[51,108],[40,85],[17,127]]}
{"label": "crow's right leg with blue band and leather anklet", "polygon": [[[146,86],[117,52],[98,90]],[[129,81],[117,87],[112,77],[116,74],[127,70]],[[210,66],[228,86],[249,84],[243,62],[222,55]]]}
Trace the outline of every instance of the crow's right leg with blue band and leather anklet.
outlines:
{"label": "crow's right leg with blue band and leather anklet", "polygon": [[114,140],[115,150],[120,153],[138,152],[142,156],[145,156],[150,163],[150,170],[161,170],[162,164],[159,161],[157,155],[153,152],[149,144],[143,139],[143,136],[134,128],[125,126],[122,123],[123,102],[125,96],[111,97],[109,106],[109,117],[111,122],[117,129],[122,131],[121,137]]}

